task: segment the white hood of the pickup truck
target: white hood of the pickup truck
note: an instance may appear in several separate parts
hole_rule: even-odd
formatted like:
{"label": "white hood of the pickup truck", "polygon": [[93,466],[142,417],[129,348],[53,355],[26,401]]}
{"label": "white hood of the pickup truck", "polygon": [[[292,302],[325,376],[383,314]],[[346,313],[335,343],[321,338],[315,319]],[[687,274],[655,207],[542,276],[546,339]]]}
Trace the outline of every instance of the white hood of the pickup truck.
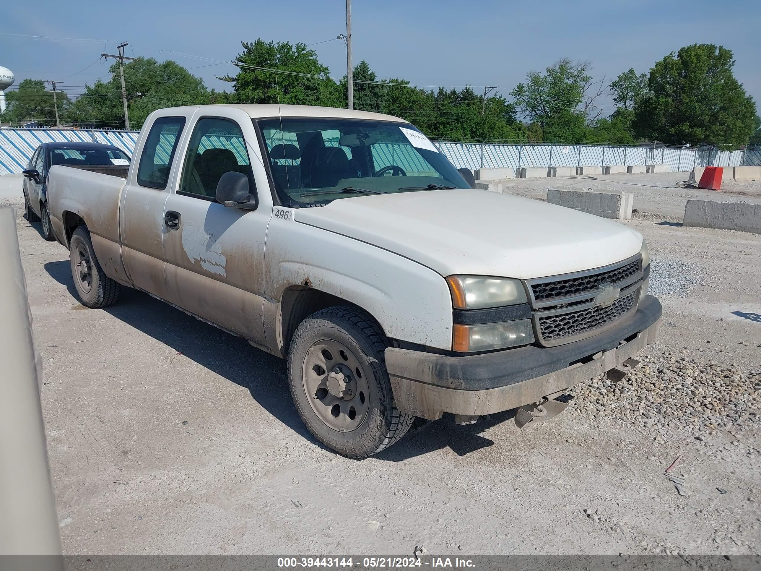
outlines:
{"label": "white hood of the pickup truck", "polygon": [[441,276],[554,276],[616,263],[642,247],[642,234],[612,220],[489,190],[357,196],[297,209],[293,217]]}

